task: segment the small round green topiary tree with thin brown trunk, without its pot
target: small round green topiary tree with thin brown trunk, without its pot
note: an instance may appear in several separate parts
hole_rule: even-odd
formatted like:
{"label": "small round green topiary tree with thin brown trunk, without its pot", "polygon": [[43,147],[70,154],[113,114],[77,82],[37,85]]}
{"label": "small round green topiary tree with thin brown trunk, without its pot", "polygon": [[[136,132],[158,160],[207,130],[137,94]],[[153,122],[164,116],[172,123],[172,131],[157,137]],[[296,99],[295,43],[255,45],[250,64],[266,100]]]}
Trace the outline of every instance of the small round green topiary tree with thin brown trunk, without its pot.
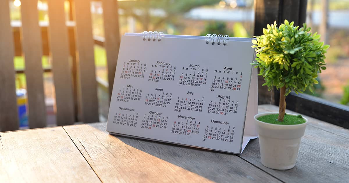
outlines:
{"label": "small round green topiary tree with thin brown trunk, without its pot", "polygon": [[252,47],[256,48],[256,61],[252,64],[260,68],[260,73],[268,89],[273,86],[280,89],[279,121],[283,121],[285,97],[293,90],[297,94],[307,88],[310,91],[321,70],[325,70],[325,53],[329,45],[320,42],[320,35],[311,33],[310,27],[294,26],[294,22],[285,20],[284,24],[263,28],[263,35],[255,36]]}

